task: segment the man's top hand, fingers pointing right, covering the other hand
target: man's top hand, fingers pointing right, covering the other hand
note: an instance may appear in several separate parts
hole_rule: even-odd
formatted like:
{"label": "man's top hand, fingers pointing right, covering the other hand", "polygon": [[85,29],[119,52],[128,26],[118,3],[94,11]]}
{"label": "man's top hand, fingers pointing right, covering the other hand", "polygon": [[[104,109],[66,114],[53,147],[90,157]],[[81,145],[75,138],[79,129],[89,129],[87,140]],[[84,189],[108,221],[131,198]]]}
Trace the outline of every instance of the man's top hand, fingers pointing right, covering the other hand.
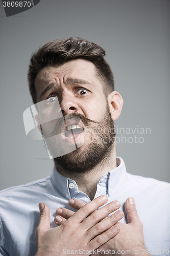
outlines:
{"label": "man's top hand, fingers pointing right, covering the other hand", "polygon": [[[123,218],[124,214],[122,211],[118,211],[119,215],[115,213],[106,218],[108,214],[120,207],[118,201],[113,201],[98,209],[106,202],[106,196],[100,196],[92,200],[81,207],[62,225],[53,229],[50,227],[50,211],[45,203],[40,203],[35,256],[67,255],[71,253],[71,250],[74,253],[76,250],[83,250],[83,255],[89,255],[92,254],[93,249],[95,250],[116,236],[119,227],[115,224]],[[101,222],[101,220],[103,221]]]}

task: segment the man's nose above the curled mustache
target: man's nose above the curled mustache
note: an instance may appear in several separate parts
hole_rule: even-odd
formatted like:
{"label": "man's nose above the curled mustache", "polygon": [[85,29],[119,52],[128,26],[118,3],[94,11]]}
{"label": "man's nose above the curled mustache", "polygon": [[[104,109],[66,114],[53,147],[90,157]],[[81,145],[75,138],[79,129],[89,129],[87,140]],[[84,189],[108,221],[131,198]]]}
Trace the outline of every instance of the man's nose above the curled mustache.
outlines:
{"label": "man's nose above the curled mustache", "polygon": [[60,115],[70,115],[71,113],[77,112],[79,110],[78,103],[75,97],[69,94],[62,95],[62,100],[60,102]]}

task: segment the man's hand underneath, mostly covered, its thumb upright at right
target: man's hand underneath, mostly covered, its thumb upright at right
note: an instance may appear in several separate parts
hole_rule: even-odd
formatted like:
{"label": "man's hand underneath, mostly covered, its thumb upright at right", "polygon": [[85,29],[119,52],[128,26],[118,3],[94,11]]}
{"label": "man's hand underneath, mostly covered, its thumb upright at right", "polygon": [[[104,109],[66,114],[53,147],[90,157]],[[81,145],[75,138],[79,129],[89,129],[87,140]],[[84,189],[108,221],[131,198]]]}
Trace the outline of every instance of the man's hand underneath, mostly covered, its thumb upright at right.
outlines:
{"label": "man's hand underneath, mostly covered, its thumb upright at right", "polygon": [[[69,205],[75,209],[80,209],[83,205],[85,205],[85,203],[77,199],[70,199]],[[141,221],[139,220],[135,201],[133,198],[128,198],[126,200],[125,210],[127,212],[128,224],[116,224],[116,226],[120,228],[119,233],[96,250],[96,252],[98,252],[98,256],[104,255],[102,254],[102,250],[109,250],[110,255],[150,255],[149,253],[145,253],[143,226]],[[56,210],[56,214],[58,216],[55,217],[55,223],[60,225],[64,223],[66,219],[74,215],[75,212],[65,208],[58,208]],[[101,221],[101,223],[102,222],[103,221]]]}

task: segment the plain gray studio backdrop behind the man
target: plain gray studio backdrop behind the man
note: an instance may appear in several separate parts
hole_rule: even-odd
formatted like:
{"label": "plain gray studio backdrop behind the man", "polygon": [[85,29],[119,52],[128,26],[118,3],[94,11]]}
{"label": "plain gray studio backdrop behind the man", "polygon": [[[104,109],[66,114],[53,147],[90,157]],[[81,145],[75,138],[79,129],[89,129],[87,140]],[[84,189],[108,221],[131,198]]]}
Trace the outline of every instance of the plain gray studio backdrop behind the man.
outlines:
{"label": "plain gray studio backdrop behind the man", "polygon": [[135,134],[143,143],[117,143],[128,172],[170,181],[169,0],[41,0],[11,17],[5,16],[2,2],[0,7],[0,188],[51,173],[53,160],[47,159],[43,142],[29,140],[23,126],[23,111],[32,105],[27,69],[41,44],[69,36],[106,50],[115,90],[124,98],[116,127],[151,128],[151,134]]}

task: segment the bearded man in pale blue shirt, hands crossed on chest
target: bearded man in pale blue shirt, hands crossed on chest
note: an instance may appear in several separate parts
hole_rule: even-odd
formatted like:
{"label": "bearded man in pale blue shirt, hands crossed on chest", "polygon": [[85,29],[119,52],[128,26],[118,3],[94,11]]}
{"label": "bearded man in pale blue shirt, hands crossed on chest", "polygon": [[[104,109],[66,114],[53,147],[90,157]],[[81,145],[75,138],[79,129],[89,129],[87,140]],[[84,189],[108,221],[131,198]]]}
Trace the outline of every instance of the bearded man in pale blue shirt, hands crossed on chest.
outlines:
{"label": "bearded man in pale blue shirt, hands crossed on chest", "polygon": [[29,88],[55,166],[50,177],[1,192],[1,255],[169,254],[170,185],[127,174],[116,158],[123,99],[104,56],[81,38],[32,55]]}

